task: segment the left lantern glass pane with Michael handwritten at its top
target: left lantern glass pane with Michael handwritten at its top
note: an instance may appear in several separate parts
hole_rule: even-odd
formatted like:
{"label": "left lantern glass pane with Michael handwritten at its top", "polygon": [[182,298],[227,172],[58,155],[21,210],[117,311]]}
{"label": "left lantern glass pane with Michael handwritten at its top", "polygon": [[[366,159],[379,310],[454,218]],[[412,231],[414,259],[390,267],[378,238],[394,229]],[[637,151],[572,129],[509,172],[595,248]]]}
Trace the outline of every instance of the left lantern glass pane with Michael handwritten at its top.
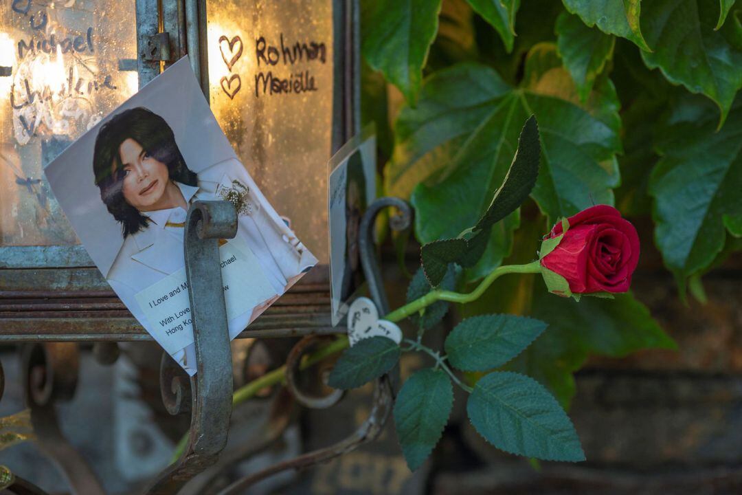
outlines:
{"label": "left lantern glass pane with Michael handwritten at its top", "polygon": [[137,91],[134,19],[134,0],[2,3],[0,246],[77,243],[42,170]]}

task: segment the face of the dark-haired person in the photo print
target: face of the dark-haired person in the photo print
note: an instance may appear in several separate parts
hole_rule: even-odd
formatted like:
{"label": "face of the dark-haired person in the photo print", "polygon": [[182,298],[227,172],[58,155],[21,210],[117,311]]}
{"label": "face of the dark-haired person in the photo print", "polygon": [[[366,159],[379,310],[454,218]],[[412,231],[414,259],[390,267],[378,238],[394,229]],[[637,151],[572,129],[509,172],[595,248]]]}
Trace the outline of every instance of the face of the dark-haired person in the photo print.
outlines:
{"label": "face of the dark-haired person in the photo print", "polygon": [[129,138],[119,146],[124,174],[124,199],[139,212],[161,209],[165,187],[168,185],[168,165],[158,162]]}

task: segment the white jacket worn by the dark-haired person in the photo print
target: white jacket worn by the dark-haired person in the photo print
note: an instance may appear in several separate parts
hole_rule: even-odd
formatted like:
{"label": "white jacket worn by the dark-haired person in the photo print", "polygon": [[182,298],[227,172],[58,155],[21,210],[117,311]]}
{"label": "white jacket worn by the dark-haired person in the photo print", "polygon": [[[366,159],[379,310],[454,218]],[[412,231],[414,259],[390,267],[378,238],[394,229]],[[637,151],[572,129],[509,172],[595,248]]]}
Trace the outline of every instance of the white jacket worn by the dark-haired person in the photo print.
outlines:
{"label": "white jacket worn by the dark-haired person in the photo print", "polygon": [[[220,192],[229,189],[243,193],[243,209],[237,216],[237,237],[244,240],[260,260],[263,273],[275,290],[275,295],[286,292],[301,278],[303,272],[317,263],[317,259],[257,189],[238,160],[230,159],[211,165],[198,172],[197,177],[197,187],[176,183],[189,205],[196,200],[222,199]],[[145,317],[134,295],[185,266],[183,225],[186,212],[176,207],[145,214],[150,219],[149,225],[126,237],[106,279],[139,323],[153,333],[151,322]],[[214,269],[218,269],[218,266],[214,266]],[[230,321],[230,336],[234,338],[266,307],[260,307],[259,312],[253,312],[252,315],[248,312]],[[174,355],[174,358],[181,361],[192,375],[195,373],[195,355],[193,345],[188,347],[184,353]]]}

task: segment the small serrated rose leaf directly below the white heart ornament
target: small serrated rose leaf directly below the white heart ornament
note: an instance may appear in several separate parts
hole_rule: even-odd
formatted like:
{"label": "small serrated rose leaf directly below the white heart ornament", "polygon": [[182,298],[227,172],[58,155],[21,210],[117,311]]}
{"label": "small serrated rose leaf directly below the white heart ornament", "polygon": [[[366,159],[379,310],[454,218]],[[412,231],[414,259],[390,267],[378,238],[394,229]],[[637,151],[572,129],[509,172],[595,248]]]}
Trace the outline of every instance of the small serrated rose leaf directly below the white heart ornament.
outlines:
{"label": "small serrated rose leaf directly below the white heart ornament", "polygon": [[343,390],[361,387],[391,370],[400,354],[400,347],[390,338],[364,338],[340,356],[327,384]]}

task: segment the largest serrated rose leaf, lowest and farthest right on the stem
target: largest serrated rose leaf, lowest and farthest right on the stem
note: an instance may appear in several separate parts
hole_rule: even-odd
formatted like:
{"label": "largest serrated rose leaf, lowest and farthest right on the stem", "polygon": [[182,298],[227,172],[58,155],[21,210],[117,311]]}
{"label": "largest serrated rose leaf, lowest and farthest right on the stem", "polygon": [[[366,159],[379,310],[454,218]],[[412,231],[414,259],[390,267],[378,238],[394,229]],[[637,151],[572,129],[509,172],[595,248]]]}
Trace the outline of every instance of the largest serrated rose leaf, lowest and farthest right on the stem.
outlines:
{"label": "largest serrated rose leaf, lowest and farthest right on the stem", "polygon": [[551,461],[585,460],[572,422],[548,390],[528,376],[495,372],[467,401],[471,424],[496,448]]}

